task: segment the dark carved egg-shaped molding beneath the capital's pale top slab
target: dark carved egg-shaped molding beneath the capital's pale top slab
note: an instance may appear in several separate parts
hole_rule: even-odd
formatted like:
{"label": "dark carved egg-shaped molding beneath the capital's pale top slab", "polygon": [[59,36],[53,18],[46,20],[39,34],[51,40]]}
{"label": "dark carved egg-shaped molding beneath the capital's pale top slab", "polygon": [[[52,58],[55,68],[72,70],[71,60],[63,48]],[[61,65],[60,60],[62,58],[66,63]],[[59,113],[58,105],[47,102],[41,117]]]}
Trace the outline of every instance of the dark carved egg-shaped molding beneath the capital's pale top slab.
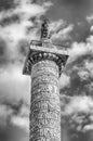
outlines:
{"label": "dark carved egg-shaped molding beneath the capital's pale top slab", "polygon": [[29,53],[28,53],[27,60],[25,62],[23,74],[30,75],[31,68],[36,63],[49,60],[49,61],[53,61],[57,64],[58,73],[61,75],[62,70],[63,70],[63,66],[65,66],[66,61],[68,59],[68,55],[67,54],[59,54],[57,52],[56,53],[55,52],[54,53],[46,52],[42,49],[44,49],[44,48],[41,48],[41,51],[29,49]]}

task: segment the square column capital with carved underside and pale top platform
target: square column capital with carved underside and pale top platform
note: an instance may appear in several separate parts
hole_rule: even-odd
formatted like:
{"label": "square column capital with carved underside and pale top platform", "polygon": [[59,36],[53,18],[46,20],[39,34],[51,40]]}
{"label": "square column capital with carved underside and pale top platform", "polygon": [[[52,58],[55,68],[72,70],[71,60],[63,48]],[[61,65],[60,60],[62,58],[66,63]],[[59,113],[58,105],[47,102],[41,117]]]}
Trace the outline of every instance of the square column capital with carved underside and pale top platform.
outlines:
{"label": "square column capital with carved underside and pale top platform", "polygon": [[65,66],[68,59],[67,51],[64,47],[58,49],[58,47],[54,46],[50,41],[37,41],[32,40],[30,42],[29,52],[25,62],[25,66],[23,69],[24,75],[30,75],[32,66],[44,60],[53,61],[59,68],[59,75],[62,73],[62,67]]}

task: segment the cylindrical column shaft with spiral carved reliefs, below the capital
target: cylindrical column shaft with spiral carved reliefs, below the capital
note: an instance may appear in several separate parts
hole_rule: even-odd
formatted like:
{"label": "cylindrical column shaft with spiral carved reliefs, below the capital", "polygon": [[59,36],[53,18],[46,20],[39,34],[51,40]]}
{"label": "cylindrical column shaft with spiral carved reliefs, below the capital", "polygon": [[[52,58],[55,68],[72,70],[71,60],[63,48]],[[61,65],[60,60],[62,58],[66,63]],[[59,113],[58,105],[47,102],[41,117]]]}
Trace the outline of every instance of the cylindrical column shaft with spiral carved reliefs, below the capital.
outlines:
{"label": "cylindrical column shaft with spiral carved reliefs, below the capital", "polygon": [[58,66],[53,61],[32,66],[30,141],[61,141]]}

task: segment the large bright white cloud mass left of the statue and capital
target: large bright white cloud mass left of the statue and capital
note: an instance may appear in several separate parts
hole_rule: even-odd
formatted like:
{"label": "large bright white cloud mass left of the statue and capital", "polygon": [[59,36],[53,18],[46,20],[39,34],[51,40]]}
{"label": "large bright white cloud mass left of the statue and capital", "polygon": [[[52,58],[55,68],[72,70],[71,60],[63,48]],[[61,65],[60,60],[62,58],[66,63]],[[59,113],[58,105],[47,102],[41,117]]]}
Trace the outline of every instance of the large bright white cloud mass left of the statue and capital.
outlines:
{"label": "large bright white cloud mass left of the statue and capital", "polygon": [[[8,1],[6,1],[8,2]],[[3,3],[2,3],[3,4]],[[11,1],[9,4],[12,4]],[[15,7],[14,7],[15,5]],[[52,5],[30,0],[15,0],[0,12],[0,97],[29,98],[29,78],[23,76],[28,41],[37,38],[40,17]],[[4,7],[4,5],[3,5]],[[23,89],[23,92],[22,92]],[[27,97],[28,95],[28,97]]]}

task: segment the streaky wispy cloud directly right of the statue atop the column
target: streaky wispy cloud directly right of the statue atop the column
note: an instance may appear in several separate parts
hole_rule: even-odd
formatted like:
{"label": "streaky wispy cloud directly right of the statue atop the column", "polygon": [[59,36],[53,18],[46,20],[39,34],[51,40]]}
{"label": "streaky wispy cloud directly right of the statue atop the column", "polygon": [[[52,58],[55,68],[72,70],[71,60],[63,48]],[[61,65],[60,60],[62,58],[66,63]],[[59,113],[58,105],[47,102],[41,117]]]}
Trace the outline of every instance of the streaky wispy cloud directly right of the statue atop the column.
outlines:
{"label": "streaky wispy cloud directly right of the statue atop the column", "polygon": [[68,25],[65,21],[50,23],[50,35],[53,42],[66,42],[71,40],[70,33],[74,30],[74,25]]}

